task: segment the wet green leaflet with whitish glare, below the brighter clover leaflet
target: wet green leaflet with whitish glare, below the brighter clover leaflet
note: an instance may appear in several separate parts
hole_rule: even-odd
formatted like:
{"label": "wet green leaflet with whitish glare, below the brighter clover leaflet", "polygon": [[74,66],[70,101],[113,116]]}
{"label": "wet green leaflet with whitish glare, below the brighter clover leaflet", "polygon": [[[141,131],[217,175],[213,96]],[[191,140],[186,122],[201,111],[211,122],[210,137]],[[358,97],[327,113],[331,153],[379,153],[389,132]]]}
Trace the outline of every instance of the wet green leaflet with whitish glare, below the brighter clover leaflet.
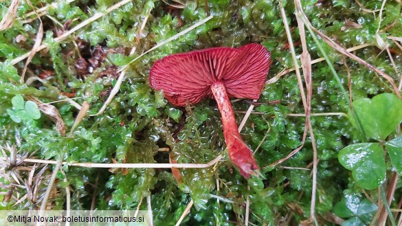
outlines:
{"label": "wet green leaflet with whitish glare, below the brighter clover leaflet", "polygon": [[386,180],[386,160],[381,144],[351,144],[339,151],[338,159],[344,168],[352,170],[361,188],[375,189]]}

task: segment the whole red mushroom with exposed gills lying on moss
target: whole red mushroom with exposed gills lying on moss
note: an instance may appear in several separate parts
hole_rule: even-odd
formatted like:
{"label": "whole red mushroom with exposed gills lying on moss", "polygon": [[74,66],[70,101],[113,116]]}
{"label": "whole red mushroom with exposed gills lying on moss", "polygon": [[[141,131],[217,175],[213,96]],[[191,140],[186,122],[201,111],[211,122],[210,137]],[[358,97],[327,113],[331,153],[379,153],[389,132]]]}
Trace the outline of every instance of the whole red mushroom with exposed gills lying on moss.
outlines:
{"label": "whole red mushroom with exposed gills lying on moss", "polygon": [[213,95],[221,111],[230,160],[248,179],[258,165],[238,133],[229,97],[258,99],[270,65],[271,54],[259,44],[201,49],[157,60],[150,69],[149,83],[164,91],[175,106],[196,104]]}

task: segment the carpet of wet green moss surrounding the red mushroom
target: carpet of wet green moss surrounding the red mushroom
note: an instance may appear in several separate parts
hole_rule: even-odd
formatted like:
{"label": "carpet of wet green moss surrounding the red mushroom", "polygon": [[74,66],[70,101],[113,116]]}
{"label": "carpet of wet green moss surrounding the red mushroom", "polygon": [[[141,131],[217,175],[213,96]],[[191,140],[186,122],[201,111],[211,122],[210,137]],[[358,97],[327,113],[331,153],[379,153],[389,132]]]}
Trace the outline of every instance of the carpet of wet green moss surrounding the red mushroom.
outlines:
{"label": "carpet of wet green moss surrounding the red mushroom", "polygon": [[[292,216],[288,221],[290,225],[299,225],[309,218],[311,167],[309,170],[300,169],[311,166],[313,161],[309,135],[303,148],[291,159],[275,168],[269,167],[302,144],[305,118],[288,115],[304,113],[298,80],[293,71],[264,87],[258,105],[254,108],[257,114],[250,115],[241,131],[250,148],[255,150],[259,146],[254,156],[263,177],[253,177],[249,181],[238,174],[227,157],[221,115],[214,100],[203,100],[186,108],[172,106],[164,99],[161,91],[153,91],[148,84],[149,69],[155,60],[169,54],[208,47],[238,47],[247,43],[261,43],[269,49],[273,59],[268,79],[282,69],[292,68],[293,60],[278,2],[210,0],[205,5],[205,1],[194,0],[186,1],[183,8],[170,11],[164,1],[135,0],[82,27],[64,41],[57,42],[56,38],[60,32],[63,33],[60,24],[71,21],[69,26],[74,27],[96,13],[106,12],[107,8],[118,2],[82,0],[59,2],[56,7],[49,8],[47,15],[51,17],[41,17],[45,30],[43,43],[48,48],[34,56],[25,76],[36,76],[41,80],[34,80],[30,85],[19,83],[25,62],[14,65],[10,62],[32,49],[40,23],[38,20],[25,23],[23,16],[32,9],[25,2],[20,4],[17,16],[22,19],[16,19],[11,28],[0,32],[0,145],[17,144],[19,154],[27,152],[32,158],[61,158],[69,162],[168,163],[169,159],[173,159],[178,163],[208,163],[220,154],[223,155],[223,161],[210,168],[180,168],[181,181],[177,175],[173,176],[170,169],[136,168],[125,171],[118,168],[100,170],[63,166],[65,176],[58,175],[56,187],[60,195],[53,202],[54,208],[65,207],[64,188],[69,186],[71,209],[76,210],[91,207],[93,192],[97,194],[95,208],[103,210],[135,210],[140,201],[140,209],[147,210],[144,199],[150,195],[155,225],[175,225],[191,200],[194,201],[194,207],[184,218],[183,225],[243,224],[247,199],[250,202],[250,225],[281,225],[289,213]],[[360,2],[368,10],[381,8],[381,1]],[[41,8],[41,3],[45,5],[52,1],[32,1],[37,8]],[[5,14],[8,5],[9,2],[0,3],[1,15]],[[295,50],[300,54],[300,31],[294,16],[293,2],[284,1],[283,5],[295,41]],[[390,45],[397,70],[401,71],[401,64],[398,63],[401,52],[386,38],[402,36],[401,4],[387,1],[381,25],[378,12],[364,12],[354,1],[311,0],[303,1],[303,6],[311,23],[343,47],[371,44],[355,51],[355,54],[399,81],[387,52],[381,52],[376,47],[378,43],[375,35],[379,27],[379,36]],[[16,95],[23,95],[25,102],[27,95],[34,95],[43,102],[53,102],[70,93],[78,97],[75,100],[78,104],[84,100],[90,104],[89,114],[98,113],[116,84],[118,74],[115,71],[119,67],[209,15],[213,16],[210,21],[161,45],[129,65],[125,71],[126,78],[106,111],[101,115],[85,117],[71,137],[61,137],[52,119],[44,113],[41,113],[40,118],[19,123],[14,122],[7,113],[12,110],[12,98]],[[54,19],[60,24],[55,23]],[[142,34],[139,34],[145,20],[147,22]],[[68,26],[66,28],[69,29]],[[19,35],[27,40],[16,41]],[[320,58],[322,54],[309,34],[306,41],[311,58]],[[344,56],[323,41],[320,44],[347,90],[348,70],[343,65],[346,62],[350,70],[353,100],[392,93],[388,81],[354,60],[344,60]],[[108,53],[107,56],[96,67],[89,63],[93,70],[88,71],[88,74],[78,73],[78,58],[89,61],[96,55],[94,50],[98,47],[102,47]],[[136,47],[136,51],[129,56],[133,47]],[[320,62],[312,67],[311,112],[347,113],[348,102],[328,65]],[[52,74],[44,76],[44,71],[51,71]],[[102,71],[109,72],[102,74]],[[276,101],[279,103],[271,104]],[[69,132],[78,109],[65,101],[53,105],[60,112]],[[249,101],[240,100],[234,102],[233,106],[236,120],[240,123],[244,114],[237,112],[247,111]],[[370,222],[374,216],[372,212],[361,216],[340,211],[353,203],[359,203],[368,210],[375,209],[374,204],[363,198],[361,189],[338,160],[339,150],[361,142],[361,136],[348,119],[341,116],[313,116],[311,124],[320,159],[316,203],[316,215],[320,223],[332,225],[324,218],[328,213],[335,213],[346,221],[359,219],[363,223]],[[396,136],[396,133],[392,133],[388,138],[394,139]],[[168,148],[169,154],[161,151],[161,148]],[[390,174],[392,164],[388,156],[386,167]],[[45,174],[51,172],[52,167],[45,170]],[[23,174],[22,177],[26,178],[27,175]],[[65,178],[67,182],[63,181]],[[45,187],[46,184],[43,184],[41,190]],[[400,190],[401,185],[398,185],[395,200],[401,199]],[[4,198],[5,191],[8,188],[0,188],[0,199]],[[16,192],[21,196],[26,194],[26,190],[22,189]],[[368,192],[375,199],[374,203],[377,203],[377,194]],[[218,202],[216,196],[223,199]],[[30,203],[25,206],[25,203],[20,203],[13,207],[15,202],[12,199],[3,203],[4,207],[1,208],[23,209],[34,205]],[[394,203],[392,206],[396,207]]]}

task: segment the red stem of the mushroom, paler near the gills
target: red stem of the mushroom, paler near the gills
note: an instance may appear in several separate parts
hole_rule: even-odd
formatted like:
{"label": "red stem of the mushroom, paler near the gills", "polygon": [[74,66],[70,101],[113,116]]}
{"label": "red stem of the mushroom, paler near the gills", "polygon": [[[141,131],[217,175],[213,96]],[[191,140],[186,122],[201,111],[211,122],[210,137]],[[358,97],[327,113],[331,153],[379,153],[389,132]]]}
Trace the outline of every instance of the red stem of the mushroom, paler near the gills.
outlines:
{"label": "red stem of the mushroom, paler near the gills", "polygon": [[255,174],[254,170],[258,170],[258,165],[252,155],[252,150],[245,144],[240,133],[238,133],[226,87],[222,82],[214,82],[211,85],[211,90],[218,104],[218,109],[221,111],[223,134],[225,135],[230,161],[234,166],[238,167],[243,177],[248,179],[250,174]]}

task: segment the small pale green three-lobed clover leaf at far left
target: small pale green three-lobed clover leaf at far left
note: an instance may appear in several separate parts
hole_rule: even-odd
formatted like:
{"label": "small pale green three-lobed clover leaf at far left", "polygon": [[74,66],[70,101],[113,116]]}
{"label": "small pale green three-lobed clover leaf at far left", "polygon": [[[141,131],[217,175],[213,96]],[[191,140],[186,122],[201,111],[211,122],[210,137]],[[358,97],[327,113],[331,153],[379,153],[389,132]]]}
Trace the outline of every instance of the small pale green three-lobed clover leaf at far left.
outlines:
{"label": "small pale green three-lobed clover leaf at far left", "polygon": [[16,123],[28,120],[38,120],[41,117],[41,111],[39,111],[38,105],[30,100],[25,102],[22,95],[14,96],[14,98],[11,99],[11,103],[12,110],[7,109],[7,113]]}

